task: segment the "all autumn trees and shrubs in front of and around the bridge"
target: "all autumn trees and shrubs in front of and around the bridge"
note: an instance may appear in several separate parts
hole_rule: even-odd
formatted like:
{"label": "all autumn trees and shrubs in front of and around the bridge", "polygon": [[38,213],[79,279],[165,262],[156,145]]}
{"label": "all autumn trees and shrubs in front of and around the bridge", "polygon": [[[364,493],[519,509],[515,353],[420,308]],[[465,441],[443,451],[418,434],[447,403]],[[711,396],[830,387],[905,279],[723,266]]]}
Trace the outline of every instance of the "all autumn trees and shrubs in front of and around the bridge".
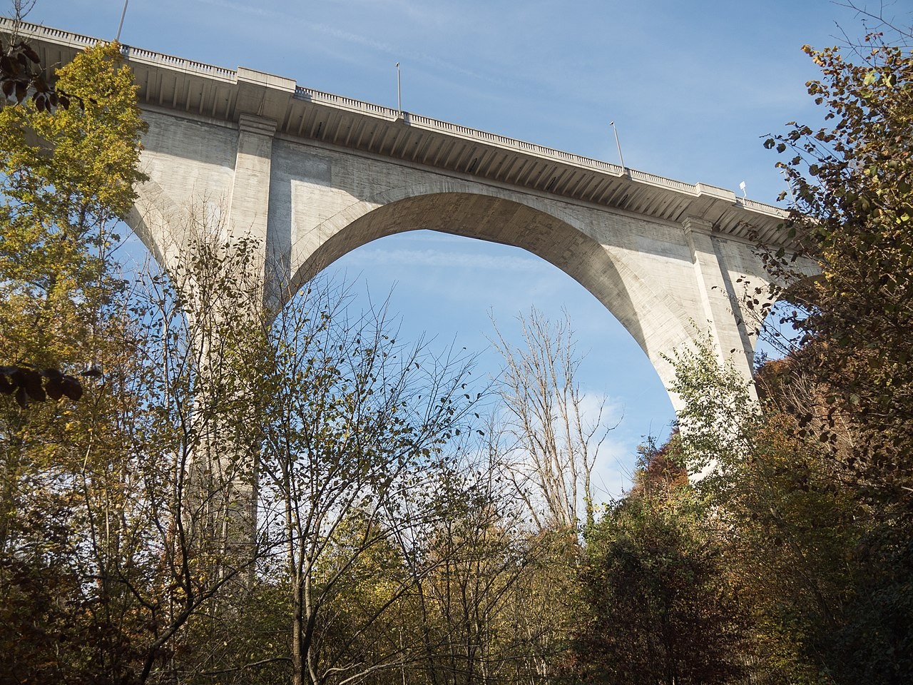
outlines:
{"label": "all autumn trees and shrubs in front of and around the bridge", "polygon": [[883,40],[808,48],[833,128],[768,142],[783,230],[822,270],[768,256],[801,341],[760,403],[709,346],[679,351],[680,432],[602,506],[569,322],[498,336],[483,412],[471,358],[344,289],[266,311],[259,246],[214,242],[211,210],[180,217],[192,258],[128,282],[142,120],[118,47],[58,71],[47,93],[79,107],[14,85],[0,683],[913,680],[913,57]]}

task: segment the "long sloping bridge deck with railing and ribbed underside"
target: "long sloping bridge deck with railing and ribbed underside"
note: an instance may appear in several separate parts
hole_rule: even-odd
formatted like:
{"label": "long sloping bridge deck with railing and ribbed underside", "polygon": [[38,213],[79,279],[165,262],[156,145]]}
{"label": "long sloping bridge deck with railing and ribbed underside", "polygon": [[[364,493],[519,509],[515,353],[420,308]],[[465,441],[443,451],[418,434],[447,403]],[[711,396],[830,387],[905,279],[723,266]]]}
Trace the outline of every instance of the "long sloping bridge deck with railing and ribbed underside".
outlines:
{"label": "long sloping bridge deck with railing and ribbed underside", "polygon": [[[11,19],[0,17],[0,32]],[[62,64],[100,42],[47,26],[23,24],[42,62]],[[250,68],[228,69],[124,46],[141,86],[143,108],[183,112],[235,125],[243,111],[258,111],[278,123],[278,135],[401,159],[458,176],[484,178],[572,201],[679,222],[709,221],[715,231],[741,239],[752,232],[778,242],[785,213],[707,184],[647,174],[636,169],[477,131],[411,112],[353,100],[297,85],[293,79]]]}

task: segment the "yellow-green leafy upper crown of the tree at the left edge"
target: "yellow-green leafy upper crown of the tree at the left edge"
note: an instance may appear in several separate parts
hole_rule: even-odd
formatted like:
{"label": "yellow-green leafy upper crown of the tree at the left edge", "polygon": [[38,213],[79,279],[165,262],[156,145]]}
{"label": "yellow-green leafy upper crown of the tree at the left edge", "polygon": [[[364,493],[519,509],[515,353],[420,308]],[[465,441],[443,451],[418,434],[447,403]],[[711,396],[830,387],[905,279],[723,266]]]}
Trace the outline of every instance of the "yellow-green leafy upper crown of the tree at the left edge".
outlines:
{"label": "yellow-green leafy upper crown of the tree at the left edge", "polygon": [[[145,124],[120,47],[94,47],[58,69],[81,108],[0,111],[0,392],[28,400],[79,397],[76,367],[94,368],[114,223],[135,195]],[[42,376],[45,385],[42,387]]]}

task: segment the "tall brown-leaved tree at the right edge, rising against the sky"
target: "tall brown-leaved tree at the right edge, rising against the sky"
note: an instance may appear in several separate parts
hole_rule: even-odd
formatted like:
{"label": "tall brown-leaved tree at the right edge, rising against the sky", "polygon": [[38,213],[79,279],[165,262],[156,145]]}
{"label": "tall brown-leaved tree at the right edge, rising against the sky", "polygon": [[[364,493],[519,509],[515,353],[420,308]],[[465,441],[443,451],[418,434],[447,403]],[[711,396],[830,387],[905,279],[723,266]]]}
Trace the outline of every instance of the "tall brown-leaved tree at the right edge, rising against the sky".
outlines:
{"label": "tall brown-leaved tree at the right edge, rising against the sky", "polygon": [[788,318],[804,333],[803,368],[830,389],[823,411],[806,412],[806,424],[832,445],[834,428],[851,432],[854,448],[834,456],[855,474],[860,495],[908,510],[913,57],[881,34],[846,48],[855,62],[839,47],[804,50],[822,70],[809,94],[835,123],[792,124],[765,144],[789,155],[778,163],[795,197],[784,230],[822,271],[812,281],[790,278],[790,260],[771,259],[802,305]]}

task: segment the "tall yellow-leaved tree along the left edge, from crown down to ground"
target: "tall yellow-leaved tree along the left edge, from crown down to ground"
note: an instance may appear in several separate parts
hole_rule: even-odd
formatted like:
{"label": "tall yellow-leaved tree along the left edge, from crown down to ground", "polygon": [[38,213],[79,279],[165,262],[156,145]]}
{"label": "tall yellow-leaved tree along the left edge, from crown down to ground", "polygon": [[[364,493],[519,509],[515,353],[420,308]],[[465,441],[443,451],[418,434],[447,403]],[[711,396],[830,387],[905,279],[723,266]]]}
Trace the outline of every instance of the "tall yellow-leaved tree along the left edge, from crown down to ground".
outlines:
{"label": "tall yellow-leaved tree along the left edge, from crown down to ground", "polygon": [[13,608],[0,670],[79,681],[93,660],[121,672],[131,658],[121,638],[137,627],[94,601],[110,588],[89,583],[101,547],[85,506],[88,493],[121,498],[109,486],[127,454],[112,431],[129,403],[109,402],[117,375],[90,386],[81,410],[69,401],[83,392],[79,370],[97,376],[131,349],[106,265],[142,177],[144,124],[117,46],[80,54],[58,70],[58,87],[85,106],[30,99],[0,111],[0,601]]}

